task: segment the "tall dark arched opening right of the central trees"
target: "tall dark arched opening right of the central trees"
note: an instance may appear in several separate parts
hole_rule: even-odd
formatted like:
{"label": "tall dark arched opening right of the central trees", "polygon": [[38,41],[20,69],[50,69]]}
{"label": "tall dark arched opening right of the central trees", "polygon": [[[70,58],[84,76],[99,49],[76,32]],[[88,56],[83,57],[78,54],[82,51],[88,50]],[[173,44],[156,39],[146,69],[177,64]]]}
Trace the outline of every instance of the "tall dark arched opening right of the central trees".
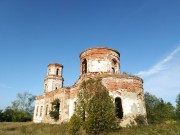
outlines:
{"label": "tall dark arched opening right of the central trees", "polygon": [[116,106],[116,116],[119,119],[122,119],[123,118],[123,108],[122,108],[121,98],[119,98],[119,97],[115,98],[115,106]]}

